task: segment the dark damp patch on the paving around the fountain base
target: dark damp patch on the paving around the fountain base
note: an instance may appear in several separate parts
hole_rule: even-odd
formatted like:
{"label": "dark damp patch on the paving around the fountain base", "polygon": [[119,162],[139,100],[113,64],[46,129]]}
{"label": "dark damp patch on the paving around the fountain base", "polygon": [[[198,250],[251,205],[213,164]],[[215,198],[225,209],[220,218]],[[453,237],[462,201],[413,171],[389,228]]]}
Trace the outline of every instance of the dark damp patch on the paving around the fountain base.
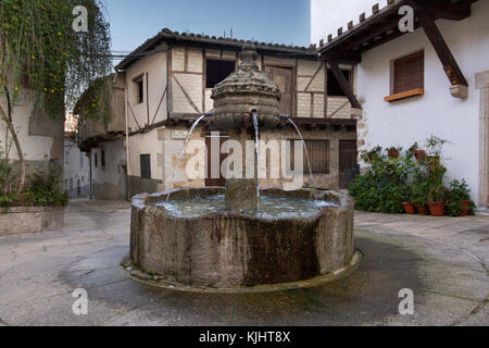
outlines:
{"label": "dark damp patch on the paving around the fountain base", "polygon": [[[399,315],[399,290],[424,288],[422,258],[402,246],[358,237],[365,259],[353,274],[314,288],[266,294],[204,294],[154,288],[130,279],[118,265],[127,254],[114,247],[72,264],[59,277],[88,290],[90,303],[102,302],[121,314],[103,324],[134,324],[143,316],[161,325],[363,325],[385,324]],[[416,297],[416,304],[422,302]]]}

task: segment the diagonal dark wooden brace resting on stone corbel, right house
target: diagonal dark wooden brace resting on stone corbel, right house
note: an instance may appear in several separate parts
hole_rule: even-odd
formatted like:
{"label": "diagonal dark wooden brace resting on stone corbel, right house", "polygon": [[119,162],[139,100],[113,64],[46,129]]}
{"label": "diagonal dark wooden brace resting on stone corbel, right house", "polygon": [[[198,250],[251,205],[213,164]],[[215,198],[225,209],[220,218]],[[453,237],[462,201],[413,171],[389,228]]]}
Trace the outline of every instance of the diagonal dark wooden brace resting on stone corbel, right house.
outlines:
{"label": "diagonal dark wooden brace resting on stone corbel, right house", "polygon": [[440,59],[441,64],[443,65],[443,70],[447,74],[447,77],[449,78],[452,86],[455,85],[468,86],[468,83],[465,79],[464,74],[459,67],[455,58],[453,57],[443,36],[438,29],[435,20],[430,17],[427,13],[419,11],[419,9],[417,10],[418,11],[416,11],[416,13],[418,21],[423,29],[425,30],[426,36],[431,42],[435,51],[437,52],[438,58]]}

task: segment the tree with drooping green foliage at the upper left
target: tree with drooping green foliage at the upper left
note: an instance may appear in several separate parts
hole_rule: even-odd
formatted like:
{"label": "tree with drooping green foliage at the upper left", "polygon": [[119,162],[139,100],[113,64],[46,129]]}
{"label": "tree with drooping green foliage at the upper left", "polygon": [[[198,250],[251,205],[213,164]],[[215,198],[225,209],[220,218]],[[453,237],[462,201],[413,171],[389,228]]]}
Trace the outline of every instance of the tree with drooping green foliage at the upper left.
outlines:
{"label": "tree with drooping green foliage at the upper left", "polygon": [[[73,28],[76,5],[87,9],[87,32]],[[100,0],[0,3],[0,100],[7,104],[7,110],[0,104],[0,120],[16,148],[18,191],[24,189],[26,173],[14,109],[28,100],[36,111],[64,117],[65,108],[73,108],[85,88],[110,73],[110,28],[102,9]]]}

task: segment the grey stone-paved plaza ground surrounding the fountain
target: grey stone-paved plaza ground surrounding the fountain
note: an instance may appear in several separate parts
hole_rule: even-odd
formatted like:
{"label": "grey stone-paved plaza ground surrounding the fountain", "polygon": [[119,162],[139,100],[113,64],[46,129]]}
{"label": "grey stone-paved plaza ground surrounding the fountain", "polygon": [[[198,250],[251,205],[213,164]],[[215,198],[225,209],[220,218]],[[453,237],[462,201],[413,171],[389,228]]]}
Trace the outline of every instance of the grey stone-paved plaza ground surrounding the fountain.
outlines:
{"label": "grey stone-paved plaza ground surrounding the fountain", "polygon": [[[129,278],[126,202],[73,201],[66,227],[0,238],[1,325],[489,325],[489,217],[360,213],[360,269],[309,289],[201,294]],[[72,293],[88,291],[88,315]],[[400,315],[399,291],[414,291]]]}

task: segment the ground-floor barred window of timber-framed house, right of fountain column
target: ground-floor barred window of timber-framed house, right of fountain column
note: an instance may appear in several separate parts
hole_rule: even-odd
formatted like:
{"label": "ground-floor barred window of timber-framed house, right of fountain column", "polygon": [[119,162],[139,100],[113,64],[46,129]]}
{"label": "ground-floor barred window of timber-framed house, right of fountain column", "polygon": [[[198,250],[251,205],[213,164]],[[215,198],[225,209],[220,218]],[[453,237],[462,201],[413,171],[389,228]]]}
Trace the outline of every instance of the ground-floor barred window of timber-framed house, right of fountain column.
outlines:
{"label": "ground-floor barred window of timber-framed house, right of fountain column", "polygon": [[[290,141],[290,167],[294,171],[296,164],[293,160],[294,145],[298,140]],[[329,140],[304,140],[311,160],[311,170],[313,174],[329,174]],[[309,174],[308,157],[303,156],[303,171]]]}

